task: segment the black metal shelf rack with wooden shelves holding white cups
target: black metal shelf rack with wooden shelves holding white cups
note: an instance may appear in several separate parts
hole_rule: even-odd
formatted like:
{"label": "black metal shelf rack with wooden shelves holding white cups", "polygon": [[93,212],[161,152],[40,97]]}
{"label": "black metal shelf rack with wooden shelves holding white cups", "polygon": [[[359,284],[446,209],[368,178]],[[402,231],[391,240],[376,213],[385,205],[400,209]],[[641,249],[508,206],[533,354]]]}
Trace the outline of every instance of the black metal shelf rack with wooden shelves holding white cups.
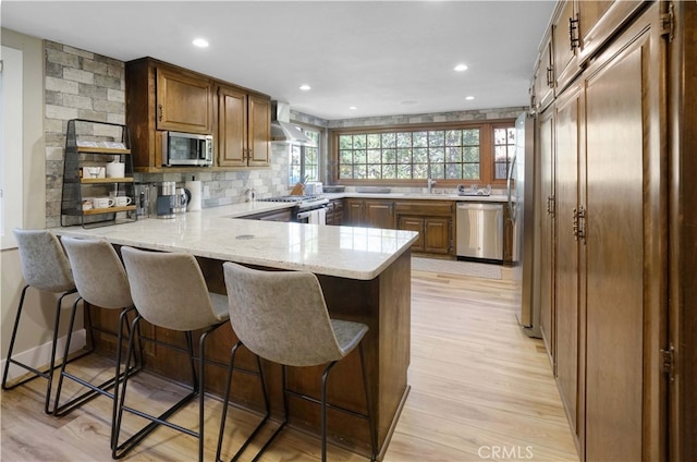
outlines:
{"label": "black metal shelf rack with wooden shelves holding white cups", "polygon": [[[109,132],[112,135],[106,135]],[[61,194],[62,226],[89,228],[136,220],[130,145],[125,125],[85,119],[68,121]],[[110,163],[120,165],[119,177],[109,175]],[[98,204],[98,199],[105,204]],[[115,203],[117,199],[127,203],[122,205]]]}

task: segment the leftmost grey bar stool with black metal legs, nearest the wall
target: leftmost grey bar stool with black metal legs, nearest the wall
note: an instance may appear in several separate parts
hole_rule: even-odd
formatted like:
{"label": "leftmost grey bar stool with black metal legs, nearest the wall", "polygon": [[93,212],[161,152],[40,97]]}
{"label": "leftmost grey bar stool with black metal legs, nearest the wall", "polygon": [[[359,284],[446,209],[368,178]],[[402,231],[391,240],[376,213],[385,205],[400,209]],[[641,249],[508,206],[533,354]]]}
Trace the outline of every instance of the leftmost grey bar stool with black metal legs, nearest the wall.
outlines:
{"label": "leftmost grey bar stool with black metal legs, nearest the wall", "polygon": [[[4,364],[2,374],[2,389],[11,390],[20,385],[34,380],[37,377],[44,377],[48,384],[46,387],[46,403],[44,412],[50,414],[49,403],[51,400],[51,385],[53,382],[53,370],[56,369],[56,349],[58,342],[59,325],[61,319],[61,305],[65,295],[77,292],[73,281],[73,275],[70,268],[70,262],[61,247],[58,238],[48,230],[13,230],[20,251],[20,260],[22,264],[22,275],[26,285],[22,289],[20,296],[20,305],[17,314],[14,318],[14,328],[10,338],[10,348],[8,351],[8,360]],[[60,297],[56,303],[56,320],[53,321],[53,338],[51,340],[51,357],[49,366],[46,370],[39,370],[28,364],[22,363],[12,357],[14,351],[14,341],[17,337],[22,309],[24,307],[24,296],[28,288],[35,288],[40,291],[60,293]],[[65,357],[63,358],[65,361]],[[8,386],[8,373],[10,364],[23,367],[33,373],[32,376],[20,380],[16,384]]]}

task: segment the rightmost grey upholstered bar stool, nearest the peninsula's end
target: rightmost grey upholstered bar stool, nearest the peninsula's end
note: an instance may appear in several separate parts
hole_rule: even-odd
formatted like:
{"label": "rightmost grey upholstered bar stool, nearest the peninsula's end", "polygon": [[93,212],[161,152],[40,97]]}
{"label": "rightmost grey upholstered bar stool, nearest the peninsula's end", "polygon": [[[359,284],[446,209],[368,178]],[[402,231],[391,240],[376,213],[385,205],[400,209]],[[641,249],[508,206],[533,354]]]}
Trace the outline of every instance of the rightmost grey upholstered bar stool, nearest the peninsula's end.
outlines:
{"label": "rightmost grey upholstered bar stool, nearest the peninsula's end", "polygon": [[[244,344],[256,355],[282,366],[283,422],[254,460],[256,461],[261,457],[264,451],[268,449],[273,439],[285,427],[288,423],[288,396],[292,394],[318,403],[321,406],[322,461],[327,460],[327,406],[368,421],[371,442],[370,460],[375,461],[377,436],[370,409],[370,387],[366,374],[362,342],[368,331],[368,326],[360,323],[331,319],[319,280],[311,272],[261,271],[228,262],[223,264],[223,273],[230,303],[230,323],[240,339],[240,344]],[[356,346],[358,346],[360,353],[360,367],[366,397],[365,414],[327,403],[329,373],[340,360]],[[231,355],[218,437],[217,460],[220,460],[222,448],[228,397],[230,394],[230,374],[234,366],[233,363],[234,355]],[[286,366],[307,367],[327,363],[329,364],[325,368],[321,378],[320,400],[288,389]],[[255,435],[256,430],[247,438],[233,457],[233,460],[241,455]]]}

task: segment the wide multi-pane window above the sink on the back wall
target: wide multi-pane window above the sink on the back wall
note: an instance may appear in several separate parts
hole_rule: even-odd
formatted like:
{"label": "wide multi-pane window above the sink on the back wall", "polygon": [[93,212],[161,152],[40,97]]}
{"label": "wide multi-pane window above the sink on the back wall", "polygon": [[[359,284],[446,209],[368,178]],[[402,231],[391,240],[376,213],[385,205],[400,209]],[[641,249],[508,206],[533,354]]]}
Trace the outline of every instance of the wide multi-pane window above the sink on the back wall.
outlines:
{"label": "wide multi-pane window above the sink on the back wall", "polygon": [[334,135],[337,173],[348,184],[413,183],[427,178],[452,180],[453,185],[494,183],[505,180],[515,144],[513,122],[338,130]]}

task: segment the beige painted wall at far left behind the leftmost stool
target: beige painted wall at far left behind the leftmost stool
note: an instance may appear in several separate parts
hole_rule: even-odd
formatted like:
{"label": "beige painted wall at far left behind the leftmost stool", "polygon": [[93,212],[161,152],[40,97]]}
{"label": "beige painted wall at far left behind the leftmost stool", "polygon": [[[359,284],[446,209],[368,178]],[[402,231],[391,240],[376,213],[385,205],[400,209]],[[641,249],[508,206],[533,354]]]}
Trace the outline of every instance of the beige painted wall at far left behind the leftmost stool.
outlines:
{"label": "beige painted wall at far left behind the leftmost stool", "polygon": [[[41,40],[12,31],[2,29],[2,45],[23,52],[23,168],[16,174],[23,175],[23,228],[41,229],[46,222],[46,153],[44,146],[44,44]],[[24,287],[20,256],[16,248],[0,253],[1,357],[8,354],[8,345],[16,313],[20,293]],[[70,299],[70,297],[69,297]],[[34,350],[36,345],[50,342],[53,326],[56,297],[29,290],[25,300],[25,316],[22,335],[17,338],[15,351],[25,352],[25,358],[36,365],[46,364],[46,350]],[[72,299],[65,302],[65,305]],[[62,329],[64,333],[65,329]],[[12,372],[11,372],[12,374]]]}

